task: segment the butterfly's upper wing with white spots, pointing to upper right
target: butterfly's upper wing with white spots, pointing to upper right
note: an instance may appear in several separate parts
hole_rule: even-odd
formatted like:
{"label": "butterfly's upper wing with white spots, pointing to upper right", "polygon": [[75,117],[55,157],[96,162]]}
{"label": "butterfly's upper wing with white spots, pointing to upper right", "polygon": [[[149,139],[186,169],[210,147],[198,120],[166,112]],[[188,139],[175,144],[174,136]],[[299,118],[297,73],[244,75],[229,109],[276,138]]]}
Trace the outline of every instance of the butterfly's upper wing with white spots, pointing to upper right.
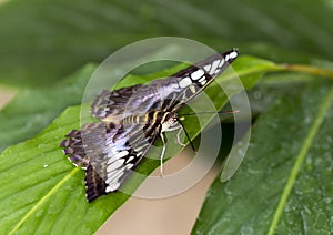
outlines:
{"label": "butterfly's upper wing with white spots, pointing to upper right", "polygon": [[154,110],[176,111],[219,76],[236,57],[234,49],[214,54],[168,79],[103,91],[92,103],[91,113],[104,122],[115,122]]}

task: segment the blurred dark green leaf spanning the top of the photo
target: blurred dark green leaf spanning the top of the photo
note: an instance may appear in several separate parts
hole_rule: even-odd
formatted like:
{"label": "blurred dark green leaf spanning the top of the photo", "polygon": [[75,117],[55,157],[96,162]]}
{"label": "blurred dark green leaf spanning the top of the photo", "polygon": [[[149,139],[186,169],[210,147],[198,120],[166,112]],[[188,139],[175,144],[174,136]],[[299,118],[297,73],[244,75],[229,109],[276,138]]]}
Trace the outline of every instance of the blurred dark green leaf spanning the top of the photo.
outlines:
{"label": "blurred dark green leaf spanning the top of the photo", "polygon": [[48,85],[130,42],[159,35],[239,47],[283,62],[304,61],[303,54],[306,61],[332,59],[331,14],[324,0],[283,0],[273,8],[265,0],[12,0],[0,8],[0,81]]}

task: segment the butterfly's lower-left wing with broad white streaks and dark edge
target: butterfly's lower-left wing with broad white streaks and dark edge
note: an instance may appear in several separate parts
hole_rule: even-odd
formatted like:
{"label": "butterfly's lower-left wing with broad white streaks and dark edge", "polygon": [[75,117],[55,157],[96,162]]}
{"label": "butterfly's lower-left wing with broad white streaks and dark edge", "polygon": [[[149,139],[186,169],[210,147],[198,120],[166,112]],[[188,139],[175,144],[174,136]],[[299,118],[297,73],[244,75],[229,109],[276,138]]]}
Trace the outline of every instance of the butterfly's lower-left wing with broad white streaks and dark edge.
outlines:
{"label": "butterfly's lower-left wing with broad white streaks and dark edge", "polygon": [[87,200],[119,190],[131,175],[152,143],[161,125],[94,123],[72,131],[61,142],[74,165],[85,171]]}

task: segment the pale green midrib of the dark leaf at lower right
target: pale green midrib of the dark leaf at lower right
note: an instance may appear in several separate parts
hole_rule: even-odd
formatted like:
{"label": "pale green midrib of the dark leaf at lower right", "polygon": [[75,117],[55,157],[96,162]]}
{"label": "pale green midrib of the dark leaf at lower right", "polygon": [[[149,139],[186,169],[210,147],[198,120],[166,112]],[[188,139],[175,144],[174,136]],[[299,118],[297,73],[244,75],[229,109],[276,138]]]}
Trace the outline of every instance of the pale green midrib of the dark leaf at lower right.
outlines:
{"label": "pale green midrib of the dark leaf at lower right", "polygon": [[315,116],[315,120],[312,123],[312,125],[310,127],[310,131],[309,131],[307,135],[304,139],[302,147],[300,149],[300,152],[296,156],[295,163],[294,163],[294,165],[293,165],[293,167],[290,172],[290,176],[286,181],[283,193],[282,193],[281,198],[279,201],[279,204],[278,204],[278,207],[275,210],[274,216],[271,221],[271,225],[270,225],[270,228],[269,228],[269,232],[268,232],[269,235],[273,235],[276,227],[278,227],[280,218],[283,214],[283,210],[286,205],[289,196],[290,196],[290,194],[292,192],[292,188],[295,184],[296,177],[297,177],[297,175],[301,171],[301,167],[302,167],[302,164],[305,160],[305,156],[306,156],[310,147],[312,146],[317,132],[320,131],[320,127],[321,127],[321,125],[324,121],[325,114],[327,113],[332,102],[333,102],[333,85],[331,85],[331,89],[330,89],[327,95],[323,99],[323,103],[322,103],[322,105],[320,105],[317,115]]}

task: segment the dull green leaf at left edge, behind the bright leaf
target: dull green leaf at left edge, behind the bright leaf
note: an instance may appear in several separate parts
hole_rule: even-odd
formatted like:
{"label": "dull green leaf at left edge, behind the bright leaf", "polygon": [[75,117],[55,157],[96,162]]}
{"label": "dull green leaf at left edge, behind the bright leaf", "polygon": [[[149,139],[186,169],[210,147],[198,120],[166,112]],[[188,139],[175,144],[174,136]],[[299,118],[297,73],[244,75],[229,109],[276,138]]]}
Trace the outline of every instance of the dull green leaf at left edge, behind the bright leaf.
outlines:
{"label": "dull green leaf at left edge, behind the bright leaf", "polygon": [[67,106],[81,103],[95,65],[88,64],[48,88],[24,89],[0,111],[0,152],[10,144],[34,136]]}

